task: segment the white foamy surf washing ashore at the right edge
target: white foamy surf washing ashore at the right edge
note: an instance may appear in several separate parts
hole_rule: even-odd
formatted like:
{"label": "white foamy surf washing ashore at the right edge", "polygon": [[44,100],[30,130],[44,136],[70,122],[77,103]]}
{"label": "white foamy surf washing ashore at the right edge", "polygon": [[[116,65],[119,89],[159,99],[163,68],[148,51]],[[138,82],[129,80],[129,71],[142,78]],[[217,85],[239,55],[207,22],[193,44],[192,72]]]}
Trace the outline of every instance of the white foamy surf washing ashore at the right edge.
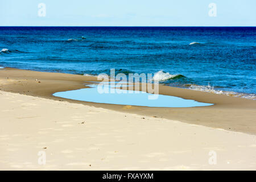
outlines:
{"label": "white foamy surf washing ashore at the right edge", "polygon": [[210,84],[208,84],[207,86],[193,85],[193,84],[186,85],[186,86],[189,86],[188,89],[191,89],[191,90],[197,90],[197,91],[201,91],[201,92],[223,94],[226,96],[241,97],[241,98],[256,100],[256,94],[247,94],[247,93],[237,93],[237,92],[232,92],[232,91],[216,90],[216,89],[214,89],[214,86],[210,86]]}

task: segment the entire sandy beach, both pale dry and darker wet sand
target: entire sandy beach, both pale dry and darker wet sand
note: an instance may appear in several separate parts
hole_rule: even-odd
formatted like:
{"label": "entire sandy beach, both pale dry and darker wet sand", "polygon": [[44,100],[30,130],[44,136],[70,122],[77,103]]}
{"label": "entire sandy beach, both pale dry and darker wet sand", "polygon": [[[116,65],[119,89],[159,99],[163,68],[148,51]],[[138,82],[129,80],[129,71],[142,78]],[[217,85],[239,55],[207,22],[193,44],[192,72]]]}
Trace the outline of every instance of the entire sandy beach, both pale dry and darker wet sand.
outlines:
{"label": "entire sandy beach, both pale dry and darker wet sand", "polygon": [[2,69],[0,169],[256,169],[255,100],[162,85],[160,94],[214,105],[156,108],[52,96],[89,81],[97,78]]}

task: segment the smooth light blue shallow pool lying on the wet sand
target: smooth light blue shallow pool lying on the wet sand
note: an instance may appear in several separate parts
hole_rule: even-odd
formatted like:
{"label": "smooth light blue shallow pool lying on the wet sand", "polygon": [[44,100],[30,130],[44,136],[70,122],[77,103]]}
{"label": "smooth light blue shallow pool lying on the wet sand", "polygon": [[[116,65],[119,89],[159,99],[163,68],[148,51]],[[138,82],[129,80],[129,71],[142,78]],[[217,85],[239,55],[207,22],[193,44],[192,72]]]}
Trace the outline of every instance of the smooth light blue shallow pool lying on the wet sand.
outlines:
{"label": "smooth light blue shallow pool lying on the wet sand", "polygon": [[[90,88],[57,92],[53,96],[77,101],[96,102],[104,104],[148,106],[148,107],[195,107],[213,104],[185,100],[184,98],[150,94],[142,91],[117,89],[120,85],[106,82],[101,88],[97,84],[86,85]],[[102,93],[102,91],[104,92]]]}

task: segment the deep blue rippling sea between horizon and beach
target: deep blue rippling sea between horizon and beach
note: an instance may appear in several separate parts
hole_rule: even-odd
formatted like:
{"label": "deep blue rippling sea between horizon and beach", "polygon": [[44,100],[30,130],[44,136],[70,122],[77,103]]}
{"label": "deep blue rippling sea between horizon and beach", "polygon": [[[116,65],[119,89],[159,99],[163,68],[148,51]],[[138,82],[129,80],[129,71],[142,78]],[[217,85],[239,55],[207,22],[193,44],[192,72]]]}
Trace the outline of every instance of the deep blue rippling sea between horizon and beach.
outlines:
{"label": "deep blue rippling sea between horizon and beach", "polygon": [[256,27],[0,27],[0,51],[2,67],[158,72],[170,86],[256,93]]}

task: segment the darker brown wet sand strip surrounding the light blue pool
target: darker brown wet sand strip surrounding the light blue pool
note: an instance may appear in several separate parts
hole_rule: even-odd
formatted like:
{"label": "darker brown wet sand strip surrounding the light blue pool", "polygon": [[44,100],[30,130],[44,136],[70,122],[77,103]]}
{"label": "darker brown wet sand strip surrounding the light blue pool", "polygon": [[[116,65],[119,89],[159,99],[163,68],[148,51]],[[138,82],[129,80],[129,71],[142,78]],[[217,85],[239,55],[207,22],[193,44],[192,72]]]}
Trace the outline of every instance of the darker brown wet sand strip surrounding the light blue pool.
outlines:
{"label": "darker brown wet sand strip surrounding the light blue pool", "polygon": [[[8,78],[7,78],[8,77]],[[68,100],[52,96],[53,93],[87,88],[84,84],[97,81],[97,77],[28,71],[5,68],[0,71],[0,89],[5,92],[68,101],[94,107],[102,107],[123,113],[139,114],[203,125],[213,128],[256,134],[256,101],[190,89],[159,85],[159,94],[176,96],[199,102],[212,103],[203,107],[144,107]]]}

